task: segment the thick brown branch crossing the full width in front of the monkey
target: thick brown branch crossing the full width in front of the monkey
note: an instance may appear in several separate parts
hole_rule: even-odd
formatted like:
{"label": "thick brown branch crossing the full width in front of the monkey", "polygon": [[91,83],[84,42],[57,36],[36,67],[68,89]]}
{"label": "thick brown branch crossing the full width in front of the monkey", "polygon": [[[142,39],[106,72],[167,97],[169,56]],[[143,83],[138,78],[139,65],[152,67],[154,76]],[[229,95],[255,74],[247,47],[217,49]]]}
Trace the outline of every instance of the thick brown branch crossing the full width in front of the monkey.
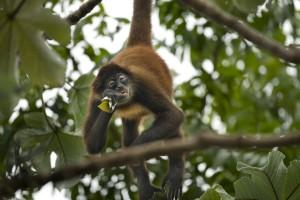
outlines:
{"label": "thick brown branch crossing the full width in front of the monkey", "polygon": [[97,172],[101,168],[111,168],[142,159],[176,152],[190,152],[210,147],[222,148],[271,148],[279,146],[300,145],[300,133],[269,137],[229,136],[217,134],[198,134],[185,139],[174,139],[153,142],[141,146],[130,147],[119,152],[92,157],[85,162],[58,169],[52,174],[20,177],[0,182],[0,196],[14,194],[18,189],[40,187],[47,182],[60,182],[87,173]]}

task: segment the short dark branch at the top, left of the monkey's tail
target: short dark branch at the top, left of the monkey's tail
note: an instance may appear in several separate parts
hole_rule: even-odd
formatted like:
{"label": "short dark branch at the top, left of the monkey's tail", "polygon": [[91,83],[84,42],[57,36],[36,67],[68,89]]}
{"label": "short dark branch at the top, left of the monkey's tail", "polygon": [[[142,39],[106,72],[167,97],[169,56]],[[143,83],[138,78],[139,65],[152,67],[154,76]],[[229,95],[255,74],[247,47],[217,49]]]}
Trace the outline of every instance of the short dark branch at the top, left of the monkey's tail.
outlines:
{"label": "short dark branch at the top, left of the monkey's tail", "polygon": [[102,0],[88,0],[83,3],[78,10],[68,15],[65,19],[71,24],[76,24],[81,18],[93,10]]}

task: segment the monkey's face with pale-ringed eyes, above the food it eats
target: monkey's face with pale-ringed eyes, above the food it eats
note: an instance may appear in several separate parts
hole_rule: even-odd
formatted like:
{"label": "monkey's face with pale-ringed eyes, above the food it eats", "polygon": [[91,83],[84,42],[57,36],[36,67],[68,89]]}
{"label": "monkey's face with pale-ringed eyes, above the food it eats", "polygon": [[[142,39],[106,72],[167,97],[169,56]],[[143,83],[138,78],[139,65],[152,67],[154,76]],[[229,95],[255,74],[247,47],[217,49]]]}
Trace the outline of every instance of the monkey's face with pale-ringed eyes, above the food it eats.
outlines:
{"label": "monkey's face with pale-ringed eyes, above the food it eats", "polygon": [[130,77],[122,72],[110,76],[104,83],[103,97],[110,97],[117,105],[129,103],[133,88]]}

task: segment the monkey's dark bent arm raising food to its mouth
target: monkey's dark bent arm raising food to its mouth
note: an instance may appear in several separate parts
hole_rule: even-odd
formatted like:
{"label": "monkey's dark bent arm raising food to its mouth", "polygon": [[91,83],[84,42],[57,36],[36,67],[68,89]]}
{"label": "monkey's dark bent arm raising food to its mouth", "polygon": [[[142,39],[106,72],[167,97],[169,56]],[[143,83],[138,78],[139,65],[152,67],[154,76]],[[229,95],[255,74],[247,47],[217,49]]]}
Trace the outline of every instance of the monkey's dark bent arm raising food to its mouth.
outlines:
{"label": "monkey's dark bent arm raising food to its mouth", "polygon": [[84,126],[84,141],[87,151],[90,154],[99,153],[105,143],[107,137],[107,127],[112,113],[101,111],[97,106],[96,100],[91,100],[89,114]]}

